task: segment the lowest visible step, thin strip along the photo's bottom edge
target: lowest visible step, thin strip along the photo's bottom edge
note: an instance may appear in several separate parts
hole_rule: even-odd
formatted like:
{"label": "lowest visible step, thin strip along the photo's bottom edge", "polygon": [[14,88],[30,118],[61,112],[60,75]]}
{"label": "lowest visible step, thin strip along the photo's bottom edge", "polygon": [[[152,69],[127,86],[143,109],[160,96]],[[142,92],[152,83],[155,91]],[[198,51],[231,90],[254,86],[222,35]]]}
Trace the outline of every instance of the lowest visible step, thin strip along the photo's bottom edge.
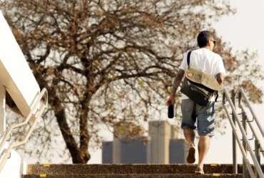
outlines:
{"label": "lowest visible step, thin strip along the photo's bottom edge", "polygon": [[27,174],[23,178],[198,178],[198,177],[223,177],[237,178],[242,177],[242,174]]}

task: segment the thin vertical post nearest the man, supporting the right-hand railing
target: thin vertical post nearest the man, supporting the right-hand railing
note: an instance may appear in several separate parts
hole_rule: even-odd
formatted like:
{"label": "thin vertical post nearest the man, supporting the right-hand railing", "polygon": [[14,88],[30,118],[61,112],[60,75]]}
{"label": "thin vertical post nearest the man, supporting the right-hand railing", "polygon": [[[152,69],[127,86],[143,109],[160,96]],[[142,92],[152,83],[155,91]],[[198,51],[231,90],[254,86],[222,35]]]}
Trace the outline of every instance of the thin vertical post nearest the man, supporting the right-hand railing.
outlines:
{"label": "thin vertical post nearest the man, supporting the right-hand railing", "polygon": [[[235,106],[235,90],[232,90],[232,96],[231,96],[233,105]],[[232,111],[232,120],[235,125],[235,113]],[[233,174],[238,174],[238,162],[236,157],[236,144],[235,144],[235,134],[232,132],[232,145],[233,145]]]}

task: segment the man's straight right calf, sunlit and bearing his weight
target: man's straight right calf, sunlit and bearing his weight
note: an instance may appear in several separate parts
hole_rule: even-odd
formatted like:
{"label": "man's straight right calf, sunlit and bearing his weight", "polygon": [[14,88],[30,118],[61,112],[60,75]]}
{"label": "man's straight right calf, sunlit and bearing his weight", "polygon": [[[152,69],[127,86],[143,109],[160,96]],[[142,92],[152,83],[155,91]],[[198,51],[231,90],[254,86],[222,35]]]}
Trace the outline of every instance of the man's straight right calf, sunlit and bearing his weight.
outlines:
{"label": "man's straight right calf, sunlit and bearing his weight", "polygon": [[205,156],[208,153],[210,147],[210,137],[208,136],[200,136],[199,143],[198,143],[198,150],[199,150],[199,161],[197,168],[203,171],[203,162],[205,160]]}

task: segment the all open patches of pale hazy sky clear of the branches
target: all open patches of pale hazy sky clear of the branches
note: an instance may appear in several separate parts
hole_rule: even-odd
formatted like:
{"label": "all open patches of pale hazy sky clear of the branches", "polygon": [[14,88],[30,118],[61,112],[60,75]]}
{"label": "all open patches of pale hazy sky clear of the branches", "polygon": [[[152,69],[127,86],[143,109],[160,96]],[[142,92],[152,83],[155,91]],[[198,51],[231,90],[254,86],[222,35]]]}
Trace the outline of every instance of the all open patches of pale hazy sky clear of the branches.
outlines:
{"label": "all open patches of pale hazy sky clear of the branches", "polygon": [[[230,46],[235,50],[248,48],[258,51],[258,62],[264,67],[264,1],[231,1],[237,13],[233,16],[226,16],[215,23],[216,31],[224,41],[230,42]],[[264,105],[256,105],[255,110],[258,115],[264,115]],[[264,125],[264,120],[261,122]],[[213,137],[205,163],[232,162],[231,130],[228,124],[227,127],[225,135]],[[238,162],[241,162],[239,154],[238,157]],[[92,152],[89,163],[101,163],[101,150]]]}

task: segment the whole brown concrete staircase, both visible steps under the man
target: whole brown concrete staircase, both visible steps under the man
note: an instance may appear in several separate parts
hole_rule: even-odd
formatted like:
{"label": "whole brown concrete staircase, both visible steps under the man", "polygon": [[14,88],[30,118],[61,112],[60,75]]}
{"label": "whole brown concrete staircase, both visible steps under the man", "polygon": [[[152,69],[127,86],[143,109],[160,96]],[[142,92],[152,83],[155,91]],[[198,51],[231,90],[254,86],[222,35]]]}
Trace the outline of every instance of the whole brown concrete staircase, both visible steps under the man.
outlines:
{"label": "whole brown concrete staircase, both visible steps under the man", "polygon": [[23,178],[242,177],[241,165],[239,174],[232,174],[231,164],[205,164],[204,175],[193,174],[195,169],[195,164],[29,164]]}

